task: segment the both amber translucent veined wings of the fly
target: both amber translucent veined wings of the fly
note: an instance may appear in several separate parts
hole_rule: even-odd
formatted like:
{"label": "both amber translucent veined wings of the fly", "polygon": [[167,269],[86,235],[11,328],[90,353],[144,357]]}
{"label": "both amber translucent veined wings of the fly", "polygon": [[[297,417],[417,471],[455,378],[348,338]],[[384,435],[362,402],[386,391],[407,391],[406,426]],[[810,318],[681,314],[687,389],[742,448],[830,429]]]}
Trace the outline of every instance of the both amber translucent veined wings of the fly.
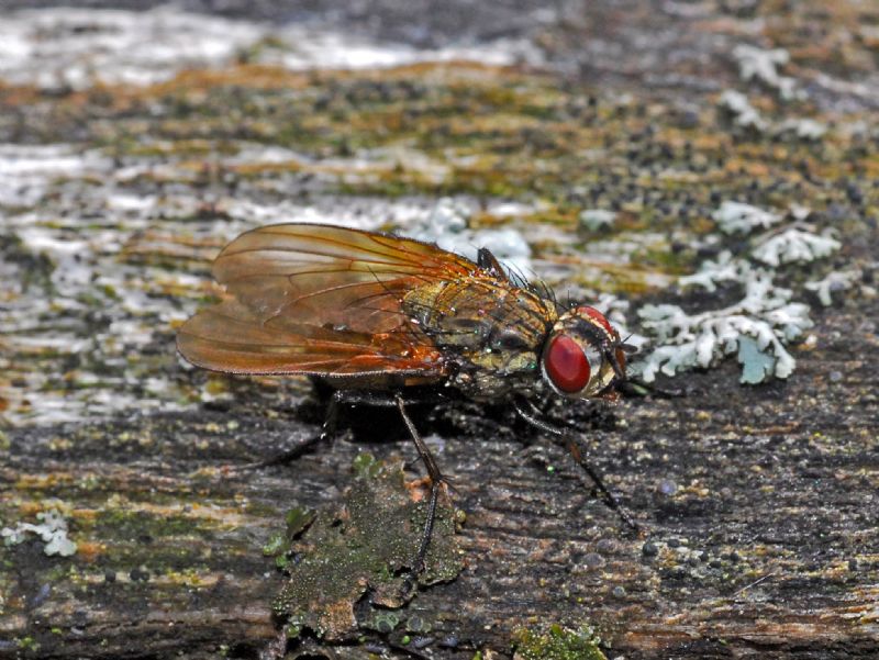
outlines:
{"label": "both amber translucent veined wings of the fly", "polygon": [[433,245],[282,224],[238,236],[214,262],[230,299],[180,328],[190,362],[235,373],[439,373],[441,354],[401,310],[415,288],[469,276]]}

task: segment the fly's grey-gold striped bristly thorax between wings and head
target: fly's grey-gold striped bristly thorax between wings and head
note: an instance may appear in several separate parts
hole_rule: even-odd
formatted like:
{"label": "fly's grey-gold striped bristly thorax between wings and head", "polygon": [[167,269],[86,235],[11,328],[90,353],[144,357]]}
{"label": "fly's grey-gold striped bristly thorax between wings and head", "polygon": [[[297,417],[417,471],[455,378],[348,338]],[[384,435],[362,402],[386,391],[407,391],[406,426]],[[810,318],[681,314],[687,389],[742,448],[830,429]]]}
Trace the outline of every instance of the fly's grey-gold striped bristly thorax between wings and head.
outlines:
{"label": "fly's grey-gold striped bristly thorax between wings and head", "polygon": [[497,399],[539,381],[556,315],[536,293],[474,277],[410,291],[403,309],[455,365],[452,382],[467,395]]}

